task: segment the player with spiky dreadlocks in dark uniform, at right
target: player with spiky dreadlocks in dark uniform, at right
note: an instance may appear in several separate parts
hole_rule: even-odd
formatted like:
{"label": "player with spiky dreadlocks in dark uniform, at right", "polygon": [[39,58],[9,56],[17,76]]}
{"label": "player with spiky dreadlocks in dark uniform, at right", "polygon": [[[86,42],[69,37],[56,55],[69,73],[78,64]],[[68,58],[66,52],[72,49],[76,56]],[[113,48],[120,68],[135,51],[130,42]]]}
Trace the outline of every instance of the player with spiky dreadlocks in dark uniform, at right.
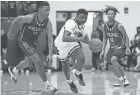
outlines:
{"label": "player with spiky dreadlocks in dark uniform, at right", "polygon": [[109,63],[109,69],[118,77],[118,83],[114,86],[130,85],[128,79],[124,74],[124,70],[118,63],[121,58],[123,58],[125,52],[130,54],[129,50],[129,38],[126,31],[120,23],[115,20],[116,13],[119,11],[111,6],[107,6],[104,10],[108,17],[108,21],[103,25],[104,36],[103,36],[103,48],[101,52],[101,57],[104,55],[105,47],[107,44],[107,39],[110,42],[110,48],[106,55],[107,63]]}

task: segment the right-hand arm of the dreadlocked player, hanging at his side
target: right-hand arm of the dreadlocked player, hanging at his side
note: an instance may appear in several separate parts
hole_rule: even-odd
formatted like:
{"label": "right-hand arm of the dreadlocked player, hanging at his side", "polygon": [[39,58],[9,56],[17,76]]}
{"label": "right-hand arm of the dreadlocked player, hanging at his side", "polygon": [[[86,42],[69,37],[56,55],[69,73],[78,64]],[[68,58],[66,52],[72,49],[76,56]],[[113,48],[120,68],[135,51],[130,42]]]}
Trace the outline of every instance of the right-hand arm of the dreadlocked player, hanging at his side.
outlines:
{"label": "right-hand arm of the dreadlocked player, hanging at his side", "polygon": [[124,43],[125,43],[126,47],[129,48],[129,38],[128,38],[128,35],[126,33],[126,30],[124,29],[124,26],[119,24],[118,29],[123,36],[123,40],[124,40]]}

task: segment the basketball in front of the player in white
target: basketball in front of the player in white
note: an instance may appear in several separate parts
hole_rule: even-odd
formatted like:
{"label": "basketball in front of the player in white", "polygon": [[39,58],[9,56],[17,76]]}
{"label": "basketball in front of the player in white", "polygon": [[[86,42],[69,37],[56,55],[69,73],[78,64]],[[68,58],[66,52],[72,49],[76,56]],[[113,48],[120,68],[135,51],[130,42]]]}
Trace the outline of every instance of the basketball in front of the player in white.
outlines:
{"label": "basketball in front of the player in white", "polygon": [[94,38],[89,42],[89,49],[96,53],[102,50],[103,43],[100,39]]}

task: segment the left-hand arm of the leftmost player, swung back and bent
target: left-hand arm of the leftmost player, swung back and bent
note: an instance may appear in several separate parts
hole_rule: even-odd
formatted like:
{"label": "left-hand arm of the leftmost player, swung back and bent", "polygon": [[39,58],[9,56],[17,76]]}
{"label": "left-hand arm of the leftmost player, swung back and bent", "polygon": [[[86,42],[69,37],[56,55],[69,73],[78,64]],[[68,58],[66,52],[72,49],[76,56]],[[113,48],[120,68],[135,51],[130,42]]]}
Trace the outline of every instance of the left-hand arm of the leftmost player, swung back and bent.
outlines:
{"label": "left-hand arm of the leftmost player, swung back and bent", "polygon": [[17,34],[24,23],[30,23],[33,19],[33,15],[18,16],[12,22],[9,32],[7,34],[8,38],[13,40],[17,38]]}

